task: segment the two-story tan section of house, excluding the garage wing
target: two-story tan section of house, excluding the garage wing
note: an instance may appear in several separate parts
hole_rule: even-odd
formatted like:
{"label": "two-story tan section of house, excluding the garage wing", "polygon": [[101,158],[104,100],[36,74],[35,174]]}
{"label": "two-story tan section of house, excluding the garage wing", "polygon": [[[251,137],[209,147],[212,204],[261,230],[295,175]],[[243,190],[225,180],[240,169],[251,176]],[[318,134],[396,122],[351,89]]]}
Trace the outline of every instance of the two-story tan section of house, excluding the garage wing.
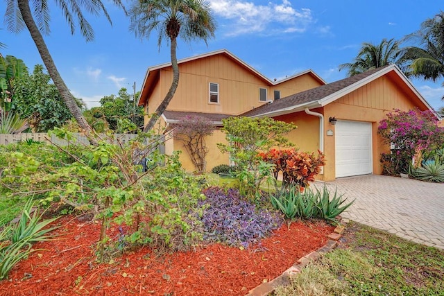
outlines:
{"label": "two-story tan section of house, excluding the garage wing", "polygon": [[[160,118],[161,125],[177,123],[183,117],[195,114],[207,117],[220,127],[223,118],[237,116],[326,83],[311,70],[280,81],[270,80],[226,50],[179,60],[178,65],[178,89]],[[171,63],[148,68],[139,96],[139,105],[144,105],[145,114],[155,111],[167,94],[172,79]],[[216,143],[225,142],[225,134],[219,128],[205,141],[210,148],[206,157],[207,171],[218,164],[229,163],[228,155],[223,155],[216,146]],[[182,142],[169,138],[165,142],[165,153],[171,154],[173,150],[183,150]],[[180,162],[189,171],[194,171],[185,151],[180,155]]]}

